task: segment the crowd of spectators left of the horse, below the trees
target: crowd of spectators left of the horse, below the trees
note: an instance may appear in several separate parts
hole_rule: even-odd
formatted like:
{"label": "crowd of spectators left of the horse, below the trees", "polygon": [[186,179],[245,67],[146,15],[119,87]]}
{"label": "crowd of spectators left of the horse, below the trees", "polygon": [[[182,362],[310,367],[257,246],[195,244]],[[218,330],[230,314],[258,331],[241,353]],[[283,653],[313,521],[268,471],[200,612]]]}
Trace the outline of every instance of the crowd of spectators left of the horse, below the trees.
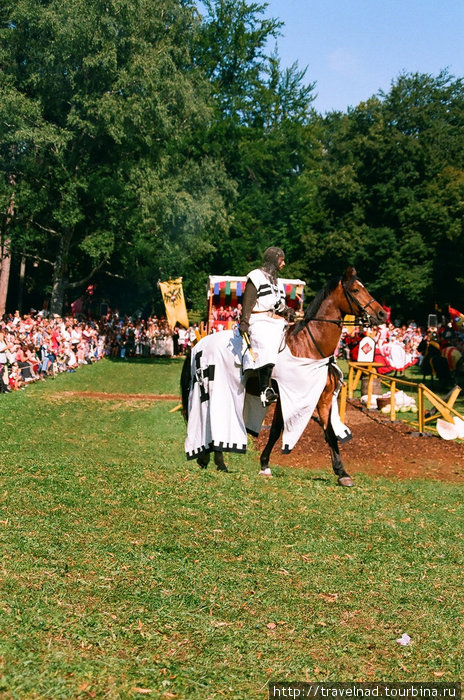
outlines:
{"label": "crowd of spectators left of the horse, below the trees", "polygon": [[196,326],[172,330],[157,316],[120,317],[116,312],[96,321],[16,311],[0,321],[0,392],[74,372],[103,357],[182,355],[197,339]]}

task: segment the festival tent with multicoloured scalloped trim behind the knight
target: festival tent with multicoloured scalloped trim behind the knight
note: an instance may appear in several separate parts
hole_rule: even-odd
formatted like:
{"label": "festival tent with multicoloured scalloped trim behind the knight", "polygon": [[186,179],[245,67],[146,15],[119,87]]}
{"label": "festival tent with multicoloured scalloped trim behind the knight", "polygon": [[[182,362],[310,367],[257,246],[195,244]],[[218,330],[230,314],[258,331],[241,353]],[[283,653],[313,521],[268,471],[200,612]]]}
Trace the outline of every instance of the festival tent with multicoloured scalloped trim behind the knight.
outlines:
{"label": "festival tent with multicoloured scalloped trim behind the knight", "polygon": [[[229,329],[234,325],[234,321],[215,320],[213,310],[221,307],[231,306],[236,308],[242,303],[243,292],[245,291],[246,277],[231,277],[228,275],[210,275],[208,278],[208,333],[212,328],[216,330]],[[304,288],[306,282],[300,279],[282,279],[285,288],[287,305],[300,311],[303,308]]]}

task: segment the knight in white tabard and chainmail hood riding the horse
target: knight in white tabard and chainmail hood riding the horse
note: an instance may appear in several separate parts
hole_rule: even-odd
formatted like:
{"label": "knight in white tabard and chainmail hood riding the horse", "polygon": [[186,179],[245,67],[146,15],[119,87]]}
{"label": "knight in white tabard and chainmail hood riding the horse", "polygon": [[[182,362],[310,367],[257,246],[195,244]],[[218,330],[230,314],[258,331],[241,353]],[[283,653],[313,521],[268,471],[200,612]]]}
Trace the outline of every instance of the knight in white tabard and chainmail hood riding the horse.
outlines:
{"label": "knight in white tabard and chainmail hood riding the horse", "polygon": [[287,320],[293,314],[285,302],[283,283],[277,278],[284,265],[284,251],[268,248],[263,266],[248,274],[242,299],[239,331],[247,344],[243,370],[257,370],[263,406],[269,406],[278,398],[270,383],[271,374],[283,343]]}

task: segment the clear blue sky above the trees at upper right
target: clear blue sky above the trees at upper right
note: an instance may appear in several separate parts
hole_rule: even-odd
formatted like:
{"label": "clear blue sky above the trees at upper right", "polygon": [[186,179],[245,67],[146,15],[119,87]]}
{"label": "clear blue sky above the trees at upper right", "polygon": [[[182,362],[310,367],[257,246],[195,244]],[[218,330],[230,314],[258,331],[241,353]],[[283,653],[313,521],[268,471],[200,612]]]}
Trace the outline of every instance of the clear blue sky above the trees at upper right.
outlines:
{"label": "clear blue sky above the trees at upper right", "polygon": [[[264,0],[266,1],[266,0]],[[267,0],[282,67],[316,82],[318,112],[388,92],[402,72],[464,77],[464,0]]]}

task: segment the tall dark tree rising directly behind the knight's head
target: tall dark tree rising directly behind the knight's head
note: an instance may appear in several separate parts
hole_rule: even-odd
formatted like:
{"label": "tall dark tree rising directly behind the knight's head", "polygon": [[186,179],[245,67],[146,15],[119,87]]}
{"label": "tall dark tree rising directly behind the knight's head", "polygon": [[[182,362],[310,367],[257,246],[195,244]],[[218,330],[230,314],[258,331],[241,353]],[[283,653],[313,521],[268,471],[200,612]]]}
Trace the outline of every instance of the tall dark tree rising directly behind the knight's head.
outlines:
{"label": "tall dark tree rising directly behind the knight's head", "polygon": [[[269,45],[282,23],[267,4],[207,0],[197,62],[216,97],[210,148],[234,178],[232,224],[216,241],[215,270],[245,273],[271,244],[297,248],[300,179],[318,151],[313,133],[313,84],[295,64],[282,70]],[[292,270],[297,272],[297,265]]]}

